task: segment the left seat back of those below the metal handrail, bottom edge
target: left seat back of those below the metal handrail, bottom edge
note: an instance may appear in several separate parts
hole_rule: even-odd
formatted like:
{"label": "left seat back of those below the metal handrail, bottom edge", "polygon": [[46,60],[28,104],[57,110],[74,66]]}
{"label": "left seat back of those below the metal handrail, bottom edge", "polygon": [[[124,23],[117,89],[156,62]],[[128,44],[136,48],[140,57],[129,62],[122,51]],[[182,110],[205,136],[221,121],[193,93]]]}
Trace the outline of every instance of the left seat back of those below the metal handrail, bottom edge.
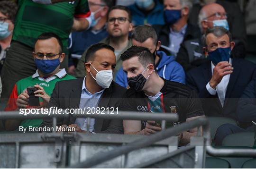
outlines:
{"label": "left seat back of those below the metal handrail, bottom edge", "polygon": [[228,169],[230,168],[230,164],[228,161],[214,158],[214,157],[207,157],[205,159],[205,168],[206,169]]}

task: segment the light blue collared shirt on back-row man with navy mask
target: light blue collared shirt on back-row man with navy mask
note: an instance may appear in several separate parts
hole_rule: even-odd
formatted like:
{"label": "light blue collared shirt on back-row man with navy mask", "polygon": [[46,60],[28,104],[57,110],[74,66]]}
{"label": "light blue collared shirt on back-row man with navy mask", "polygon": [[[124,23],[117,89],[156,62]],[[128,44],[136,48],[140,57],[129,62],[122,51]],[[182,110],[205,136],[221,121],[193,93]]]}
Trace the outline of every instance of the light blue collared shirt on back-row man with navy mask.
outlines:
{"label": "light blue collared shirt on back-row man with navy mask", "polygon": [[180,46],[181,46],[181,43],[183,42],[183,39],[184,39],[184,35],[186,33],[186,30],[187,30],[187,24],[184,25],[181,29],[181,31],[179,32],[176,32],[174,31],[172,28],[170,28],[170,34],[169,34],[169,40],[170,40],[170,43],[169,43],[169,48],[178,53],[179,50],[180,50]]}

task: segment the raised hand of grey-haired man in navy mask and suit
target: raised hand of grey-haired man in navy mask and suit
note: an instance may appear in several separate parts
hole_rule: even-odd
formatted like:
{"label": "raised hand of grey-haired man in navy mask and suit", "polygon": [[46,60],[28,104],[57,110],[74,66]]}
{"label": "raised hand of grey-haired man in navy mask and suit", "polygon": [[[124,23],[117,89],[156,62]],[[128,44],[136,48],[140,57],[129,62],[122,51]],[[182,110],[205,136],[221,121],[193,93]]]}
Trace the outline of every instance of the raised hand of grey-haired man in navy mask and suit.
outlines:
{"label": "raised hand of grey-haired man in navy mask and suit", "polygon": [[210,79],[210,87],[216,90],[217,85],[220,83],[225,75],[233,72],[232,65],[228,61],[219,62],[213,69],[212,77]]}

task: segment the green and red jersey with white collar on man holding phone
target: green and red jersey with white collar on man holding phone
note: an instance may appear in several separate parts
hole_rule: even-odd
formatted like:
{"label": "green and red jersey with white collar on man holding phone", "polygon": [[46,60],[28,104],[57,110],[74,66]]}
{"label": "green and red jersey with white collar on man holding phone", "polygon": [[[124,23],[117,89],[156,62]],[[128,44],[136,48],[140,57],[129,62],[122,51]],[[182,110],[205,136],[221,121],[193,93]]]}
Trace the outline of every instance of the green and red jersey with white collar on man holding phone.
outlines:
{"label": "green and red jersey with white collar on man holding phone", "polygon": [[[67,75],[65,69],[62,69],[55,76],[51,76],[46,79],[40,77],[38,73],[35,73],[33,76],[28,76],[24,79],[21,79],[15,84],[12,90],[12,93],[10,94],[9,101],[7,103],[5,111],[13,111],[18,109],[16,104],[18,95],[21,94],[29,86],[34,87],[35,84],[39,84],[44,88],[45,92],[49,96],[51,96],[56,82],[62,81],[62,80],[70,80],[74,78],[75,77],[73,76]],[[40,101],[40,104],[42,104],[43,99],[39,97],[39,101]],[[39,127],[42,122],[43,122],[43,119],[25,119],[21,122],[20,126]]]}

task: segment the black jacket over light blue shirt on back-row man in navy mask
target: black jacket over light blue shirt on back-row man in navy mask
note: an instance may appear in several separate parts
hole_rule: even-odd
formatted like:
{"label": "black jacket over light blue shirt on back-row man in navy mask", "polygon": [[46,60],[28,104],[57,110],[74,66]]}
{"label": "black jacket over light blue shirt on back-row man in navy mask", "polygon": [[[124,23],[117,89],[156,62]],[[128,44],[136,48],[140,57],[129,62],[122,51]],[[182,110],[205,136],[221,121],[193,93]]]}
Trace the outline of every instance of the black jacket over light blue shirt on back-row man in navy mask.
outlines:
{"label": "black jacket over light blue shirt on back-row man in navy mask", "polygon": [[[162,45],[169,47],[170,44],[170,26],[169,25],[153,25],[155,32],[157,34],[158,40],[162,42]],[[186,33],[184,35],[184,41],[195,39],[201,36],[200,29],[190,23],[187,25]],[[170,55],[169,51],[161,48],[161,51],[165,51]]]}

